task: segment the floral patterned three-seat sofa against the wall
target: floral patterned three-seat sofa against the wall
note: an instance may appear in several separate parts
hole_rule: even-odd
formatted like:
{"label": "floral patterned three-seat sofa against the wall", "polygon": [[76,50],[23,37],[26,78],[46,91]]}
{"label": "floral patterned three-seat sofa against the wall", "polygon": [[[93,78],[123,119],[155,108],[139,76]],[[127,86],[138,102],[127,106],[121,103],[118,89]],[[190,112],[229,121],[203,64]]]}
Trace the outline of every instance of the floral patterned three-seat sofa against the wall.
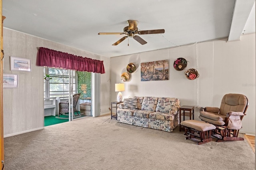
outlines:
{"label": "floral patterned three-seat sofa against the wall", "polygon": [[131,97],[117,109],[117,121],[172,132],[179,125],[180,99]]}

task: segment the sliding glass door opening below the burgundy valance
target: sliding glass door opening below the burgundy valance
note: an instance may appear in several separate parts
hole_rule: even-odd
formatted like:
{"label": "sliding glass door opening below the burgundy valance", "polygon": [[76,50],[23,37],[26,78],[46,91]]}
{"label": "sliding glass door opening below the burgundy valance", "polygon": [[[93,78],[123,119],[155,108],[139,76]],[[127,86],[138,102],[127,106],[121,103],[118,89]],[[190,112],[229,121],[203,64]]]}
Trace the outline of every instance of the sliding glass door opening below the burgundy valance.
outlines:
{"label": "sliding glass door opening below the burgundy valance", "polygon": [[[78,117],[92,116],[92,73],[44,67],[44,77],[45,118],[54,116],[72,121]],[[80,96],[74,101],[77,94]],[[66,113],[61,109],[60,114],[63,103],[70,103],[67,106],[74,107],[69,107]]]}

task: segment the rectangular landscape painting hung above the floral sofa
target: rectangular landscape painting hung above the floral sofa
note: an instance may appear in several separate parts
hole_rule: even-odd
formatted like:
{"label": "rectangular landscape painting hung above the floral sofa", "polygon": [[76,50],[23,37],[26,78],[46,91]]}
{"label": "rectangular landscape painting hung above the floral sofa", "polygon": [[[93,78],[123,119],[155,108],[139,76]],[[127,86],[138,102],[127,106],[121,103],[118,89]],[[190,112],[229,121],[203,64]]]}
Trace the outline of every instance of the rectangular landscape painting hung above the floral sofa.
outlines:
{"label": "rectangular landscape painting hung above the floral sofa", "polygon": [[160,60],[147,63],[140,63],[141,81],[157,81],[169,79],[169,61]]}

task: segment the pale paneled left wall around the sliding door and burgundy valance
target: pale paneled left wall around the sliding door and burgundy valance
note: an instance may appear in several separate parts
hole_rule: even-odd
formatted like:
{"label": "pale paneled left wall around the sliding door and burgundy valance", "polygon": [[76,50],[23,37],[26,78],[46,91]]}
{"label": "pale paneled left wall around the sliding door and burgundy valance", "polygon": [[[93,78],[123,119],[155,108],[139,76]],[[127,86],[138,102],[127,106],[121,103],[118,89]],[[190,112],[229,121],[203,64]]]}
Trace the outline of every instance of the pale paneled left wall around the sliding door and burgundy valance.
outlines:
{"label": "pale paneled left wall around the sliding door and burgundy valance", "polygon": [[[18,88],[4,88],[4,136],[37,130],[44,127],[44,71],[36,66],[38,47],[46,47],[74,55],[104,61],[105,74],[101,74],[101,113],[109,112],[110,59],[87,51],[43,40],[4,28],[4,73],[18,74]],[[31,72],[10,71],[10,56],[31,60]]]}

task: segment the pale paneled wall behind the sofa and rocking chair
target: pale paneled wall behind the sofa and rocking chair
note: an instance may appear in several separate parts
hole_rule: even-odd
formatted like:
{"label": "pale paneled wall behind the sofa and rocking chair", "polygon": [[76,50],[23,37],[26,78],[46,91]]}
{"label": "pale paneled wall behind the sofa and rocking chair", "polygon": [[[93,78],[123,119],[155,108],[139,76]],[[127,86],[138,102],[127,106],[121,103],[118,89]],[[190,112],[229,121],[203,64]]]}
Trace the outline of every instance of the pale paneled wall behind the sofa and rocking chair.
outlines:
{"label": "pale paneled wall behind the sofa and rocking chair", "polygon": [[[188,61],[185,70],[198,70],[198,79],[188,80],[184,75],[185,70],[174,69],[174,60],[179,57]],[[140,81],[140,63],[163,59],[169,59],[169,80]],[[195,119],[198,119],[200,107],[220,107],[224,94],[241,93],[248,97],[249,107],[240,132],[255,134],[255,34],[244,34],[240,41],[235,42],[223,39],[113,57],[110,68],[111,101],[115,101],[117,95],[114,84],[121,83],[120,76],[122,72],[126,72],[126,66],[130,62],[137,69],[130,74],[130,80],[124,82],[124,97],[177,97],[181,105],[196,105]]]}

